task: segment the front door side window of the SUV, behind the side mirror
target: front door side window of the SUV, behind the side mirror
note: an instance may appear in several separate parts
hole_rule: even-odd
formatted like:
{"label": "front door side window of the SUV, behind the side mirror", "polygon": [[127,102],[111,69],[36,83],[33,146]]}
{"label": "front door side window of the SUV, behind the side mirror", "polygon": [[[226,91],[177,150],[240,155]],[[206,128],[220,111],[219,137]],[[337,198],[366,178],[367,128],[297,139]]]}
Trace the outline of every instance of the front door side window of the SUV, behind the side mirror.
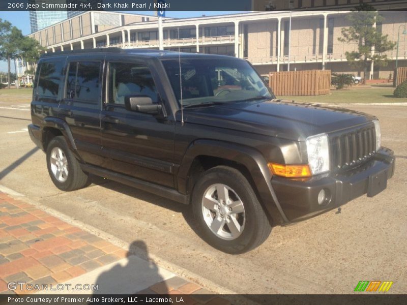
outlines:
{"label": "front door side window of the SUV, behind the side mirror", "polygon": [[109,63],[109,103],[124,105],[127,95],[145,95],[158,102],[150,69],[139,64]]}

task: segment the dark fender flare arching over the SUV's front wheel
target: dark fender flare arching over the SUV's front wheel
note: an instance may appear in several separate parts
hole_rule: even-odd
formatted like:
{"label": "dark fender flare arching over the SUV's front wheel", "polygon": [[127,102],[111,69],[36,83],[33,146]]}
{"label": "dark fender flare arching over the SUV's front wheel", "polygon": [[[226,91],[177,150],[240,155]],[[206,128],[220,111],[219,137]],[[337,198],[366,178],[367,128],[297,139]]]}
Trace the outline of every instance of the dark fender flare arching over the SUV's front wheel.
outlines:
{"label": "dark fender flare arching over the SUV's front wheel", "polygon": [[187,149],[177,174],[178,190],[187,193],[188,174],[196,157],[209,156],[237,162],[246,167],[254,182],[260,203],[274,225],[288,223],[271,185],[271,172],[266,159],[254,148],[217,140],[196,140]]}

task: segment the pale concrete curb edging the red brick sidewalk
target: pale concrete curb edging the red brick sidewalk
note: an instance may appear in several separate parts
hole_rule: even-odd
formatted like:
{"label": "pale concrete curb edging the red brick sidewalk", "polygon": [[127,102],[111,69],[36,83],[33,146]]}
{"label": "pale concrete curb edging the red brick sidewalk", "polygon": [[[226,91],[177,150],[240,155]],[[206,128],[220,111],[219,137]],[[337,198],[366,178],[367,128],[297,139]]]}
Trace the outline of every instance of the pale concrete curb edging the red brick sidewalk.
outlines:
{"label": "pale concrete curb edging the red brick sidewalk", "polygon": [[[122,249],[124,249],[126,251],[129,251],[132,255],[135,255],[135,256],[137,256],[137,257],[139,257],[141,259],[146,259],[144,257],[141,257],[139,255],[139,253],[136,253],[137,251],[134,251],[133,249],[129,250],[129,243],[122,240],[122,239],[120,239],[120,238],[117,238],[117,237],[115,237],[115,236],[113,236],[113,235],[111,235],[109,233],[106,233],[106,232],[104,232],[102,230],[99,230],[99,229],[97,229],[97,228],[95,228],[93,226],[90,226],[88,224],[82,223],[81,221],[75,220],[75,219],[73,219],[73,218],[71,218],[71,217],[69,217],[69,216],[67,216],[67,215],[53,209],[53,208],[44,206],[41,203],[36,202],[36,201],[24,196],[23,194],[15,192],[14,190],[9,189],[9,188],[7,188],[5,186],[0,185],[0,191],[10,195],[11,197],[16,197],[16,199],[18,198],[18,200],[21,200],[21,201],[23,201],[23,202],[25,202],[27,204],[31,204],[31,205],[35,206],[36,208],[38,208],[38,209],[40,209],[40,210],[42,210],[44,212],[47,212],[49,215],[52,215],[52,216],[54,216],[56,218],[59,218],[59,219],[63,220],[64,222],[67,222],[67,223],[69,223],[69,224],[71,224],[73,226],[79,227],[80,229],[82,229],[84,231],[87,231],[87,232],[92,233],[92,234],[94,234],[94,235],[96,235],[96,236],[98,236],[98,237],[100,237],[102,239],[105,239],[105,240],[109,241],[110,243],[112,243],[114,246],[117,246],[117,247],[120,247],[120,248],[122,248]],[[175,273],[176,275],[178,275],[180,277],[183,277],[183,278],[185,278],[185,279],[187,279],[187,280],[189,280],[191,282],[194,282],[194,283],[202,286],[203,288],[205,288],[205,289],[207,289],[209,291],[212,291],[212,292],[218,293],[218,294],[229,294],[229,295],[238,294],[237,292],[231,291],[231,290],[229,290],[229,289],[227,289],[225,287],[221,287],[218,284],[212,282],[211,280],[203,278],[203,277],[197,275],[196,273],[194,273],[194,272],[192,272],[192,271],[190,271],[188,269],[185,269],[185,268],[183,268],[181,266],[178,266],[176,264],[173,264],[173,263],[171,263],[171,262],[169,262],[169,261],[167,261],[165,259],[162,259],[161,257],[159,257],[157,255],[149,253],[149,258],[150,258],[150,260],[152,260],[158,266],[160,266],[162,268],[165,268],[168,271],[171,271],[171,272]],[[239,298],[239,300],[241,301],[242,299]],[[251,303],[251,302],[252,301],[247,299],[247,303]]]}

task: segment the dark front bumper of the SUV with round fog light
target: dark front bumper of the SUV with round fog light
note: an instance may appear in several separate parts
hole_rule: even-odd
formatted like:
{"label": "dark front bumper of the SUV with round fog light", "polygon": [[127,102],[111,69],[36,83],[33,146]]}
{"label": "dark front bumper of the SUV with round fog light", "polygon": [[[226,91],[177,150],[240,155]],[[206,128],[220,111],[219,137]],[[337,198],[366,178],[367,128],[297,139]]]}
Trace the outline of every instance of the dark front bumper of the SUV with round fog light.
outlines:
{"label": "dark front bumper of the SUV with round fog light", "polygon": [[[359,196],[374,196],[386,188],[394,174],[395,158],[391,149],[382,147],[365,164],[331,175],[307,180],[273,176],[271,184],[289,221],[310,218],[345,204]],[[318,193],[324,189],[328,199],[318,204]]]}

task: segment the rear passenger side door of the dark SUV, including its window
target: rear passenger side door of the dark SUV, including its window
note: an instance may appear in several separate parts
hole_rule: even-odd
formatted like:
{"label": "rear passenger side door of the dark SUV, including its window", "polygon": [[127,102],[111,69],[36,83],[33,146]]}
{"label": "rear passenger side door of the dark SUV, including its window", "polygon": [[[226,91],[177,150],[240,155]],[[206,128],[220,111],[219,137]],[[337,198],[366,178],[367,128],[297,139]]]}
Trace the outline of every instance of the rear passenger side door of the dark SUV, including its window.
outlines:
{"label": "rear passenger side door of the dark SUV, including its window", "polygon": [[86,163],[101,165],[100,108],[104,55],[70,56],[59,107]]}

